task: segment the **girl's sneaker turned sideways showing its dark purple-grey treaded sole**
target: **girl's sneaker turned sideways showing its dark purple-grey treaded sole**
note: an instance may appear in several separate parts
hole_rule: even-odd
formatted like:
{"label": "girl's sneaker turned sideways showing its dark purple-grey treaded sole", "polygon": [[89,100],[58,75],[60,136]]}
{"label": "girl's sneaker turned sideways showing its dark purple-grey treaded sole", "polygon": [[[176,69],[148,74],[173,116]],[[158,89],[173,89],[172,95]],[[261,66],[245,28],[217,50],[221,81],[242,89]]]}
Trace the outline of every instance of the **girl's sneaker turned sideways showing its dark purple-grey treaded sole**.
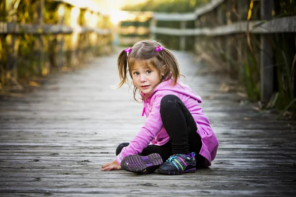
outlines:
{"label": "girl's sneaker turned sideways showing its dark purple-grey treaded sole", "polygon": [[137,174],[151,173],[162,164],[162,159],[158,153],[148,156],[129,155],[121,161],[122,169]]}

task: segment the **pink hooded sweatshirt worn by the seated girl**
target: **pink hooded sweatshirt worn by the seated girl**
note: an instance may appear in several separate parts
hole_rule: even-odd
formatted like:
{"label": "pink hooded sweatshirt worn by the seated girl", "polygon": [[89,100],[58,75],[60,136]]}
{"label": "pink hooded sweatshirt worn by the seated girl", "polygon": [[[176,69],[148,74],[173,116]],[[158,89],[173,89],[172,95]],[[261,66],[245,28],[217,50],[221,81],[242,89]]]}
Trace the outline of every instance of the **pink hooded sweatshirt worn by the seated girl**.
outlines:
{"label": "pink hooded sweatshirt worn by the seated girl", "polygon": [[204,165],[210,166],[211,162],[215,159],[219,143],[210,126],[208,118],[203,114],[202,107],[199,106],[201,98],[179,79],[175,86],[172,85],[172,82],[172,80],[168,80],[160,83],[154,88],[151,96],[143,101],[147,119],[145,120],[144,126],[136,134],[130,144],[124,147],[121,153],[116,156],[118,164],[128,155],[142,153],[143,149],[146,148],[150,142],[151,144],[161,146],[170,140],[168,133],[163,127],[159,112],[160,101],[166,95],[179,97],[196,121],[196,132],[200,135],[202,140],[202,147],[199,154],[206,159]]}

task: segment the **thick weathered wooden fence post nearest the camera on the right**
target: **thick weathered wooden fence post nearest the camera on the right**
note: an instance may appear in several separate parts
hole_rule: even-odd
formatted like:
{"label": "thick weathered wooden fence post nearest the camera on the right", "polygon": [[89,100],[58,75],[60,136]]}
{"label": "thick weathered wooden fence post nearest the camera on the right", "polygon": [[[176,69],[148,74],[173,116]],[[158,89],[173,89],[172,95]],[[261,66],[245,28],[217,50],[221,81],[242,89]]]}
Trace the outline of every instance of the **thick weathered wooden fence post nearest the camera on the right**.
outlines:
{"label": "thick weathered wooden fence post nearest the camera on the right", "polygon": [[[261,20],[272,19],[273,0],[261,0]],[[273,94],[273,48],[272,34],[261,34],[260,37],[260,100],[267,103]]]}

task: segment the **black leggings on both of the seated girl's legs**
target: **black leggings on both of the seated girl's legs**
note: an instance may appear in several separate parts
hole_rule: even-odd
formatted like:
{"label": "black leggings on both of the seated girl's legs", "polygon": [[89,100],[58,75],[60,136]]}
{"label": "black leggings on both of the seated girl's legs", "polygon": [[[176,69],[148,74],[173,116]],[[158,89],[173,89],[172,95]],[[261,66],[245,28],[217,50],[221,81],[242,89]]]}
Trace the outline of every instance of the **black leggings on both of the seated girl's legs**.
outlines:
{"label": "black leggings on both of the seated girl's legs", "polygon": [[[160,102],[160,116],[170,141],[162,146],[148,145],[141,155],[158,153],[165,162],[173,154],[195,152],[197,165],[203,164],[204,157],[198,155],[202,142],[196,132],[196,122],[182,100],[175,95],[164,96]],[[116,155],[128,145],[129,143],[119,144]]]}

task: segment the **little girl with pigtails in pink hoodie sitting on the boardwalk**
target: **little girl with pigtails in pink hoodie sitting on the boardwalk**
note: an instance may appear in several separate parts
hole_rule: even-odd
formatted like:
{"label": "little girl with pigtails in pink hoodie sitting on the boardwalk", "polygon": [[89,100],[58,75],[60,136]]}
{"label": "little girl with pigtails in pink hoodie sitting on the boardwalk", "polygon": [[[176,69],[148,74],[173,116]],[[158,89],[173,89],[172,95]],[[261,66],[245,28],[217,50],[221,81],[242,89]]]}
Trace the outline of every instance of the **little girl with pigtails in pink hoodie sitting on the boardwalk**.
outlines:
{"label": "little girl with pigtails in pink hoodie sitting on the boardwalk", "polygon": [[103,164],[102,170],[183,174],[210,166],[218,140],[199,105],[201,98],[180,81],[175,56],[159,42],[144,40],[122,51],[117,62],[118,87],[128,84],[129,73],[134,99],[140,93],[142,116],[147,119],[130,143],[117,147],[115,160]]}

